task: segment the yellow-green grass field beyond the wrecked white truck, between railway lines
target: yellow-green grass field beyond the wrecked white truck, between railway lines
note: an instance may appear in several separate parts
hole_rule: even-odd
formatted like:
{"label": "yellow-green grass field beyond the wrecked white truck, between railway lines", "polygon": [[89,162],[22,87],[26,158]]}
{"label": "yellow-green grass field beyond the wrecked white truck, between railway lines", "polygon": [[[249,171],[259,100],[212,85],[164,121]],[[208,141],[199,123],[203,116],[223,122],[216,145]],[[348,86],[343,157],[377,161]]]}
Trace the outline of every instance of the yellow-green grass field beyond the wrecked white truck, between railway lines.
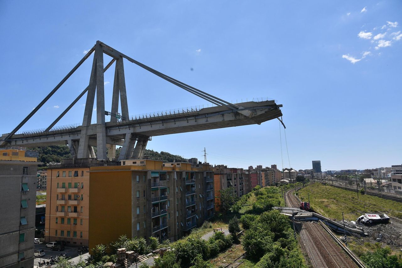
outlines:
{"label": "yellow-green grass field beyond the wrecked white truck, between railway lines", "polygon": [[303,201],[307,201],[310,194],[312,209],[331,219],[342,219],[343,212],[345,220],[356,221],[361,214],[375,211],[382,211],[402,219],[402,203],[377,196],[359,194],[357,199],[355,192],[332,186],[325,188],[321,183],[306,186],[298,193]]}

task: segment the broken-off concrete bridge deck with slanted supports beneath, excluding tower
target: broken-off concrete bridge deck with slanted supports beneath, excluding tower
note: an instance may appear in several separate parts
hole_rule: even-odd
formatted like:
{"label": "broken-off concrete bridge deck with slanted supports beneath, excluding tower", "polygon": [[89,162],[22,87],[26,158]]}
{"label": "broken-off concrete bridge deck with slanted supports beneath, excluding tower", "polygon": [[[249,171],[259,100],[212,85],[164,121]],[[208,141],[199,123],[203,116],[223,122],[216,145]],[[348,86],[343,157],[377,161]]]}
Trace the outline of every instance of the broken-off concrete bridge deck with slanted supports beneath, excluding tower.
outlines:
{"label": "broken-off concrete bridge deck with slanted supports beneath, excluding tower", "polygon": [[[159,115],[152,118],[106,122],[106,146],[109,159],[115,158],[115,145],[122,146],[119,160],[140,159],[152,136],[261,124],[282,116],[275,101],[236,103],[239,110],[225,106],[203,108],[198,111]],[[97,125],[86,130],[89,157],[96,157],[92,146],[97,145]],[[4,139],[4,136],[0,140]],[[43,131],[32,134],[16,134],[8,141],[10,145],[28,147],[64,145],[70,146],[72,155],[78,155],[82,126],[64,130]]]}

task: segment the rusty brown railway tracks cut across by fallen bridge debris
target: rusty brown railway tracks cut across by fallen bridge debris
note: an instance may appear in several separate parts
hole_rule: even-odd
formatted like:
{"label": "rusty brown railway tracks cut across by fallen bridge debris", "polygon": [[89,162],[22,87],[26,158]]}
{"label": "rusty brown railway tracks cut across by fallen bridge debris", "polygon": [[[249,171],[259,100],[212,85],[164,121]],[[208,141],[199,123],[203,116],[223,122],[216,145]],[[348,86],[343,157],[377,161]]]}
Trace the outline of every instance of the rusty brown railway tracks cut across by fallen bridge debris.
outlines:
{"label": "rusty brown railway tracks cut across by fallen bridge debris", "polygon": [[[298,208],[299,200],[294,192],[295,189],[292,189],[285,193],[286,206]],[[314,268],[357,267],[317,223],[297,223],[295,227]]]}

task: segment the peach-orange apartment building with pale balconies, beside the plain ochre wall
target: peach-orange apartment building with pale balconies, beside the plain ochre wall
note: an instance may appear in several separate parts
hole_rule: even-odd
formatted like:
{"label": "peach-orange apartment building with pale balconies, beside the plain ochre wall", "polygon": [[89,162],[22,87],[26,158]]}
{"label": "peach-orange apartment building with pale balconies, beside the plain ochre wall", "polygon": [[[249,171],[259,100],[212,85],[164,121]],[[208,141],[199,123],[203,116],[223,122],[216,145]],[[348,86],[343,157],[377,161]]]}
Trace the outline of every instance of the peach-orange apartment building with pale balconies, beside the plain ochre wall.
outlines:
{"label": "peach-orange apartment building with pale balconies, beside the plain ochre wall", "polygon": [[88,246],[89,167],[47,170],[45,241]]}

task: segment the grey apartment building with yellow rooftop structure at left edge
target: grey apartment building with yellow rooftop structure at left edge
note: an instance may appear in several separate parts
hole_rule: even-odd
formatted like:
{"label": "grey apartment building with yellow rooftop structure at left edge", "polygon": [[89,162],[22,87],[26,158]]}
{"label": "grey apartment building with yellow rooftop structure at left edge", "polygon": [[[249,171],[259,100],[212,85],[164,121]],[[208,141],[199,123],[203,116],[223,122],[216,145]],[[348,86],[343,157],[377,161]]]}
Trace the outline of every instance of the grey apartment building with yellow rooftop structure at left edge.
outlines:
{"label": "grey apartment building with yellow rooftop structure at left edge", "polygon": [[0,267],[31,268],[38,165],[25,151],[0,149]]}

